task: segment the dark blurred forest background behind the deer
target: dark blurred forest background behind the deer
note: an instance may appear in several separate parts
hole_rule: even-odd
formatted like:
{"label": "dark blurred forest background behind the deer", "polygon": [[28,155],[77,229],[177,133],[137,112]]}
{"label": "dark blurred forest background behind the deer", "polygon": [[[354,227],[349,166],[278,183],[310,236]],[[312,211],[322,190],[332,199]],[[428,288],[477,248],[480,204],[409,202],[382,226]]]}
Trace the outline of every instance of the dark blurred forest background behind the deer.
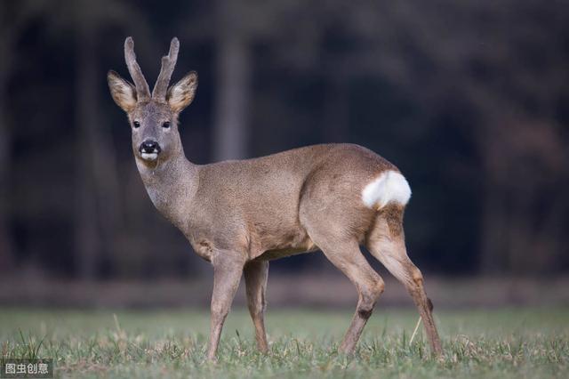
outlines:
{"label": "dark blurred forest background behind the deer", "polygon": [[[566,1],[22,0],[0,2],[0,276],[209,270],[148,200],[108,93],[125,36],[148,83],[172,36],[172,80],[198,72],[191,161],[355,142],[410,181],[422,270],[569,269]],[[321,254],[272,267],[333,270]]]}

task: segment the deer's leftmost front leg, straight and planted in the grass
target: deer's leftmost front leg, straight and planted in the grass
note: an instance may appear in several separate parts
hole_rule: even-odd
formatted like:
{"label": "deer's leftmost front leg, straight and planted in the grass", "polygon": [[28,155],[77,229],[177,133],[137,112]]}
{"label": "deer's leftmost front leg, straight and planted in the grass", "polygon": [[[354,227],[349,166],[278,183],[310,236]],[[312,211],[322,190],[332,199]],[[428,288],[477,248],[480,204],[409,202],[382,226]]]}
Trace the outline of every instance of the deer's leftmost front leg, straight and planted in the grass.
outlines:
{"label": "deer's leftmost front leg, straight and planted in the grass", "polygon": [[212,319],[210,346],[207,353],[209,360],[215,360],[223,322],[233,302],[244,267],[244,262],[239,259],[232,259],[228,254],[221,256],[220,262],[213,263]]}

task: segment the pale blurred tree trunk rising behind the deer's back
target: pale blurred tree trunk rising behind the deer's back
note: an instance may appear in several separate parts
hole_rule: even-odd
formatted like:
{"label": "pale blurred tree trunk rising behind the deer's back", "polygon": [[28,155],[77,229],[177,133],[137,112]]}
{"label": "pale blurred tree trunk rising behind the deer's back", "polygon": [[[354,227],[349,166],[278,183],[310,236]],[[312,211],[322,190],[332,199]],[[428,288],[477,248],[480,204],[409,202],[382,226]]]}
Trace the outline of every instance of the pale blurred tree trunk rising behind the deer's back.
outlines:
{"label": "pale blurred tree trunk rising behind the deer's back", "polygon": [[216,161],[247,156],[247,125],[250,98],[249,46],[239,28],[238,12],[229,1],[218,1],[216,52],[216,99],[213,130],[213,158]]}

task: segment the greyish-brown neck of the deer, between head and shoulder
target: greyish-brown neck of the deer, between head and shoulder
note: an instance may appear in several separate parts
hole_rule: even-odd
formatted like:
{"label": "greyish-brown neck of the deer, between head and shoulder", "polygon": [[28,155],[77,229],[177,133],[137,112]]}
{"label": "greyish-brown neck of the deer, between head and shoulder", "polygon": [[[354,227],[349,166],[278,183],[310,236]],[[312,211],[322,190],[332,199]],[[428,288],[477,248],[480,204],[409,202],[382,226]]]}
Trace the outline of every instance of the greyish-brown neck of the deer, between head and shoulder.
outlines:
{"label": "greyish-brown neck of the deer, between head and shoulder", "polygon": [[158,161],[156,166],[137,157],[136,165],[156,209],[183,230],[198,186],[197,166],[183,153],[165,162]]}

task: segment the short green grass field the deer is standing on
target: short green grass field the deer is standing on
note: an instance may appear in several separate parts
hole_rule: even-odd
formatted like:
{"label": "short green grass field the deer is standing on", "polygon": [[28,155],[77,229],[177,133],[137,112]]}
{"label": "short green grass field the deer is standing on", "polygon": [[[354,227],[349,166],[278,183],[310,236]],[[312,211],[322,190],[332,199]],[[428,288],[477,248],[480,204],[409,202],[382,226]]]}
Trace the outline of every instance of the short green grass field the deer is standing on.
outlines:
{"label": "short green grass field the deer is standing on", "polygon": [[[116,314],[116,319],[114,317]],[[357,354],[336,349],[351,314],[268,310],[270,353],[255,349],[244,310],[228,317],[219,362],[204,361],[201,310],[0,310],[4,358],[53,358],[58,376],[110,377],[566,377],[569,309],[439,310],[445,358],[422,336],[414,310],[377,307]]]}

